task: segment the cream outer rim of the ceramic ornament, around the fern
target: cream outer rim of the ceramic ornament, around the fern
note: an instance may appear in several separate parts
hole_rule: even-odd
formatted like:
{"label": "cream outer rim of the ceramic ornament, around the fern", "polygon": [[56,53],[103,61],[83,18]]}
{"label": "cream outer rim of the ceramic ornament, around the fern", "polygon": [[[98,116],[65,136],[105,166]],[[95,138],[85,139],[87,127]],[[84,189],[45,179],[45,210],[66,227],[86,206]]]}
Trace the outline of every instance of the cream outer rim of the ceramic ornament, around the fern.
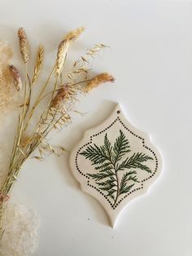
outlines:
{"label": "cream outer rim of the ceramic ornament, around the fern", "polygon": [[[139,188],[135,189],[133,192],[130,192],[128,196],[124,197],[126,200],[120,201],[120,203],[116,205],[116,208],[112,208],[111,205],[107,203],[107,197],[104,197],[105,194],[99,191],[99,188],[91,185],[89,182],[89,176],[86,174],[86,172],[80,170],[78,167],[78,156],[82,148],[92,143],[92,139],[94,137],[101,135],[104,131],[110,129],[110,127],[113,126],[117,121],[120,122],[120,126],[124,127],[124,129],[129,132],[130,136],[134,136],[141,140],[142,147],[146,151],[151,152],[155,158],[155,170],[146,179],[143,179],[143,182],[140,182],[141,186]],[[111,227],[114,227],[117,217],[124,209],[124,207],[128,205],[129,201],[132,201],[137,196],[145,194],[148,191],[148,188],[151,187],[151,184],[154,183],[155,180],[159,177],[159,174],[162,170],[162,159],[157,148],[155,148],[155,146],[151,143],[149,136],[134,127],[127,120],[127,118],[124,117],[124,113],[120,108],[120,105],[116,104],[116,107],[106,120],[104,120],[98,126],[94,126],[85,131],[81,140],[76,144],[74,148],[72,148],[72,152],[70,152],[69,165],[73,176],[81,185],[81,190],[91,196],[94,196],[94,198],[97,199],[101,205],[103,205],[103,208],[110,220]]]}

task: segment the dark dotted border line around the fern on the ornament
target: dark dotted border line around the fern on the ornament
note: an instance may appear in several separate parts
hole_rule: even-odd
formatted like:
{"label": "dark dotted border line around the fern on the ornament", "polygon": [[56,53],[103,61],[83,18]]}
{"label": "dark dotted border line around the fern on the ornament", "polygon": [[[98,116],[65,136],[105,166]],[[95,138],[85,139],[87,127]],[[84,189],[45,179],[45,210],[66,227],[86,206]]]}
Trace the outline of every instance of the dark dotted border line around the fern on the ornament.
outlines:
{"label": "dark dotted border line around the fern on the ornament", "polygon": [[[120,114],[120,110],[117,110],[116,113],[117,113],[117,114]],[[84,173],[80,170],[80,168],[79,168],[79,166],[78,166],[78,164],[77,164],[77,158],[78,158],[79,153],[81,152],[81,149],[82,149],[82,148],[85,148],[86,146],[88,146],[89,144],[92,143],[92,141],[93,141],[92,138],[93,138],[93,137],[96,137],[96,136],[98,136],[98,135],[101,135],[103,132],[105,132],[106,130],[108,130],[109,128],[111,128],[111,126],[113,126],[113,125],[116,123],[116,121],[120,121],[120,124],[124,127],[125,130],[128,130],[131,135],[135,136],[137,139],[141,139],[141,140],[142,140],[142,146],[143,146],[143,148],[146,148],[147,150],[149,150],[149,151],[153,154],[153,156],[155,157],[155,170],[154,170],[154,172],[153,172],[148,178],[142,179],[142,180],[140,181],[140,183],[141,183],[141,187],[140,187],[140,188],[135,188],[135,189],[133,189],[132,191],[130,191],[129,193],[127,193],[125,196],[123,196],[119,201],[117,201],[116,205],[113,206],[113,205],[111,204],[111,201],[107,198],[107,196],[106,196],[100,189],[98,189],[97,187],[95,187],[95,186],[93,186],[93,185],[91,185],[91,184],[89,183],[90,177],[89,177],[87,174],[84,174]],[[96,191],[98,191],[102,196],[105,197],[105,199],[108,201],[109,205],[111,205],[111,208],[112,208],[113,210],[115,210],[116,207],[117,207],[118,205],[120,205],[120,202],[123,201],[127,196],[131,195],[133,192],[137,192],[137,190],[142,189],[142,188],[143,188],[143,183],[146,182],[148,179],[151,179],[151,178],[155,175],[155,173],[156,173],[157,170],[158,170],[158,166],[159,166],[159,163],[158,163],[157,156],[156,156],[155,152],[154,152],[151,148],[149,148],[149,147],[146,146],[146,144],[145,144],[145,139],[143,139],[143,138],[142,138],[141,136],[139,136],[139,135],[136,135],[135,133],[133,133],[132,130],[130,130],[127,126],[125,126],[125,125],[124,125],[124,122],[120,120],[120,117],[116,117],[116,119],[115,119],[114,121],[112,121],[112,122],[111,122],[111,125],[107,126],[107,128],[101,130],[100,132],[98,132],[98,133],[95,134],[95,135],[91,135],[91,136],[90,136],[90,141],[89,141],[88,143],[85,143],[83,146],[81,146],[81,148],[79,148],[79,150],[76,152],[76,170],[78,170],[78,172],[79,172],[81,175],[83,175],[83,176],[87,179],[87,186],[89,186],[90,188],[94,188],[94,189],[95,189]]]}

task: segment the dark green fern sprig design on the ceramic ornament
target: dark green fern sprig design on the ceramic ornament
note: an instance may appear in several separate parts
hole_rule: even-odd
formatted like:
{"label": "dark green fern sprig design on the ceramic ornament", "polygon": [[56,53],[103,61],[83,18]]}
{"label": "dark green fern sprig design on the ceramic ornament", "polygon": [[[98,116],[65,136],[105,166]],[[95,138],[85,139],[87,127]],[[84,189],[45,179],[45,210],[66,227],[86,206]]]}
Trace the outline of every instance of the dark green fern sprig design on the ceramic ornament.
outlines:
{"label": "dark green fern sprig design on the ceramic ornament", "polygon": [[[123,160],[124,155],[130,152],[129,140],[120,130],[120,135],[113,145],[107,139],[106,134],[102,146],[94,143],[94,145],[88,146],[85,151],[80,153],[91,161],[97,172],[88,175],[95,180],[98,188],[106,192],[106,196],[111,198],[113,206],[116,205],[119,196],[128,193],[135,183],[139,182],[137,180],[137,170],[145,170],[147,173],[151,173],[151,169],[143,163],[153,160],[153,158],[142,152],[134,152],[130,157]],[[122,171],[124,171],[124,174],[118,175]]]}

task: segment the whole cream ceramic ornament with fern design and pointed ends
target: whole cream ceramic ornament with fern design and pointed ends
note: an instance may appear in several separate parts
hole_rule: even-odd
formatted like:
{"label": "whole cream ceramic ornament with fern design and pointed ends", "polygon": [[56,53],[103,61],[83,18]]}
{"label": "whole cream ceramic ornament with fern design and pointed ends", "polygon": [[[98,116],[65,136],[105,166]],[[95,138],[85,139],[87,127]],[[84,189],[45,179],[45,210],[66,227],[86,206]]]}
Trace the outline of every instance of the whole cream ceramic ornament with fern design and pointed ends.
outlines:
{"label": "whole cream ceramic ornament with fern design and pointed ends", "polygon": [[103,205],[113,227],[124,206],[157,179],[161,158],[149,137],[116,105],[106,121],[85,132],[70,155],[70,166],[81,189]]}

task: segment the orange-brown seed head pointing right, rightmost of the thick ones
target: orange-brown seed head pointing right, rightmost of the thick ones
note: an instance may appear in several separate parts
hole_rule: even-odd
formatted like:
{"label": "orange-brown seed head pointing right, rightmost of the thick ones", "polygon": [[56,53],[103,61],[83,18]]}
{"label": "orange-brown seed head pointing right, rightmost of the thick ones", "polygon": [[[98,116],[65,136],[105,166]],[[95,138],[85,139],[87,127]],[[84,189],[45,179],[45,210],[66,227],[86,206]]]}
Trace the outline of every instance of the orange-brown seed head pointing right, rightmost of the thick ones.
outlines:
{"label": "orange-brown seed head pointing right, rightmost of the thick ones", "polygon": [[94,89],[95,87],[99,86],[101,83],[104,82],[114,82],[115,78],[111,76],[109,73],[100,73],[96,77],[92,78],[87,82],[85,86],[85,91],[89,92],[89,90]]}

